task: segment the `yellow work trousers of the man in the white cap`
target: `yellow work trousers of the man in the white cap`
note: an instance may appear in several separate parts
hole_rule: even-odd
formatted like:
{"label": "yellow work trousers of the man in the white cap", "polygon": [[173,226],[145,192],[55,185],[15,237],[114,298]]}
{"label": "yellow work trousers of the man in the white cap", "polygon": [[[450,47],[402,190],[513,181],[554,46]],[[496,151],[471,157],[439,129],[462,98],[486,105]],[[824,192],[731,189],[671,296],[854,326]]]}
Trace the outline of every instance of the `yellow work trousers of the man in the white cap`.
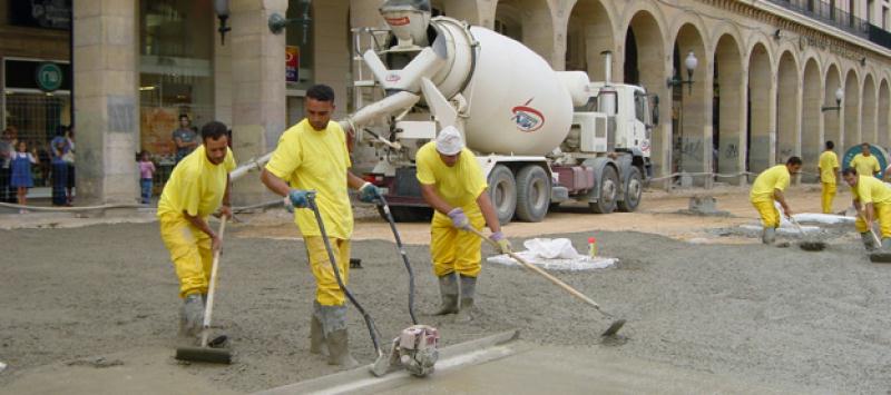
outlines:
{"label": "yellow work trousers of the man in the white cap", "polygon": [[[486,219],[479,207],[473,204],[462,209],[470,220],[470,226],[482,230]],[[482,239],[479,236],[453,227],[449,216],[437,211],[430,226],[430,255],[433,258],[433,273],[437,277],[452,271],[466,277],[477,277],[480,273]]]}

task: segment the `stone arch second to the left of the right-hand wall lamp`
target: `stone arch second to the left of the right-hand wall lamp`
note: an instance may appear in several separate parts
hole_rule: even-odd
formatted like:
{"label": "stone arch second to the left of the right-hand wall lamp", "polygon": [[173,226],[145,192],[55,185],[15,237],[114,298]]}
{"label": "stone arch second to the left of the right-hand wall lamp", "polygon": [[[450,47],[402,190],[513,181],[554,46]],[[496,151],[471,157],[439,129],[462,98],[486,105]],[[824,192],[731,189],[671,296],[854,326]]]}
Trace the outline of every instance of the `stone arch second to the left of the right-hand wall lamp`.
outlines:
{"label": "stone arch second to the left of the right-hand wall lamp", "polygon": [[776,164],[801,155],[799,146],[799,66],[791,52],[780,57],[776,91]]}

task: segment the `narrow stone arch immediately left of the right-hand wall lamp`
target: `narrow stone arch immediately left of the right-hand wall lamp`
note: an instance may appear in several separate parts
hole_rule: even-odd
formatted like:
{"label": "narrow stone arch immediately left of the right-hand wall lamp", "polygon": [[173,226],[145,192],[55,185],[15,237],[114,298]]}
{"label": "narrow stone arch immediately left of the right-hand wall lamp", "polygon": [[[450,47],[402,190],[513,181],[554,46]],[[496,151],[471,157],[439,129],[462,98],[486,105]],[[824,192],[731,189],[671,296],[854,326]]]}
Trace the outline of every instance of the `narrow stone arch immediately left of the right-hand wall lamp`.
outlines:
{"label": "narrow stone arch immediately left of the right-hand wall lamp", "polygon": [[[816,182],[820,154],[823,150],[821,140],[822,117],[820,108],[823,106],[823,79],[820,78],[820,66],[816,60],[810,59],[804,63],[804,85],[802,92],[801,110],[801,155],[804,161],[804,176],[802,181]],[[834,141],[838,142],[838,141]],[[809,177],[810,176],[810,177]]]}

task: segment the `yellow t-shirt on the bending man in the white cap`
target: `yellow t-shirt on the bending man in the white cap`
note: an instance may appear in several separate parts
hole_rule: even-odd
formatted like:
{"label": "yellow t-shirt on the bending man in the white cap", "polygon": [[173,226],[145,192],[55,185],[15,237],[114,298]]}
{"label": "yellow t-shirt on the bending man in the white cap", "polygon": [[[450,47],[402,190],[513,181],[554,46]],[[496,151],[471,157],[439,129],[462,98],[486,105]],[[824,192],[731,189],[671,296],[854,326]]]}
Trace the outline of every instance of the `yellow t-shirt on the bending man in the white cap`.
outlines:
{"label": "yellow t-shirt on the bending man in the white cap", "polygon": [[469,149],[461,150],[454,166],[449,167],[440,159],[435,141],[425,144],[415,156],[418,181],[435,185],[439,195],[449,206],[464,207],[476,204],[477,198],[489,185],[482,177],[477,156]]}

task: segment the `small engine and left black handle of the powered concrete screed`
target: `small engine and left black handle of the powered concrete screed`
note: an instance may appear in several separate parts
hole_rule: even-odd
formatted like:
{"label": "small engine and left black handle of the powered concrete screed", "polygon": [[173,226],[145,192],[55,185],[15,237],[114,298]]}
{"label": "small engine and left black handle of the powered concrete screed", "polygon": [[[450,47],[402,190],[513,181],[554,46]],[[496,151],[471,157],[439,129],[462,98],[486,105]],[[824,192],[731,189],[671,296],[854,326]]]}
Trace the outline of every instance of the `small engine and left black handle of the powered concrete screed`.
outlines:
{"label": "small engine and left black handle of the powered concrete screed", "polygon": [[[371,336],[371,343],[374,345],[374,352],[378,354],[378,357],[374,361],[374,364],[371,365],[371,373],[375,376],[383,376],[384,374],[391,372],[391,366],[394,365],[393,358],[396,357],[394,353],[390,353],[389,355],[384,354],[380,346],[380,335],[378,334],[378,328],[374,326],[374,320],[371,318],[371,315],[365,312],[359,300],[350,293],[350,289],[346,288],[346,285],[343,284],[343,278],[341,277],[340,269],[337,268],[336,260],[334,259],[334,254],[331,250],[331,241],[327,238],[327,233],[325,231],[325,224],[322,220],[322,214],[319,211],[319,206],[315,205],[315,191],[311,191],[307,195],[307,203],[309,208],[315,215],[315,221],[319,225],[319,233],[322,234],[322,240],[325,244],[325,250],[327,251],[329,261],[331,263],[331,267],[334,270],[334,277],[337,279],[337,285],[340,286],[341,290],[346,298],[350,299],[350,303],[355,306],[360,314],[362,314],[362,318],[365,320],[365,325],[369,328],[369,335]],[[389,207],[386,209],[389,211]],[[401,248],[400,248],[401,249]],[[404,254],[404,253],[403,253]],[[408,260],[407,265],[408,265]],[[412,317],[413,319],[413,317]],[[432,372],[432,363],[435,362],[438,356],[435,346],[439,342],[439,334],[434,328],[424,326],[424,325],[414,325],[404,330],[400,334],[393,342],[393,349],[398,349],[401,352],[399,361],[411,363],[412,361],[405,361],[403,356],[405,355],[418,355],[420,357],[424,356],[432,356],[432,359],[422,359],[421,365],[419,367],[424,368],[418,372],[422,372],[427,374]],[[402,353],[403,348],[405,349]],[[431,354],[432,353],[432,354]],[[428,364],[429,363],[429,364]],[[429,365],[429,366],[427,366]],[[405,364],[409,366],[409,364]],[[412,372],[414,374],[414,372]]]}

